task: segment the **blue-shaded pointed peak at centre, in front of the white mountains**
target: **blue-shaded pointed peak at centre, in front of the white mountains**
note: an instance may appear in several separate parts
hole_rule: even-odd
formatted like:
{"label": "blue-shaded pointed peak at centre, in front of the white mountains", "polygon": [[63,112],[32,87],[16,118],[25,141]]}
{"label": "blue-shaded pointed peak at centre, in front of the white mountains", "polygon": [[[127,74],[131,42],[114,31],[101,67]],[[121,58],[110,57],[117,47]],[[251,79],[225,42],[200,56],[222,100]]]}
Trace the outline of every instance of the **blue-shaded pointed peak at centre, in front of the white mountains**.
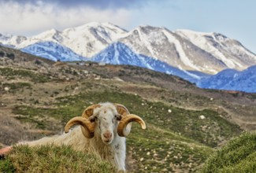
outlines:
{"label": "blue-shaded pointed peak at centre, in front of the white mountains", "polygon": [[152,57],[136,54],[121,42],[114,42],[105,50],[96,54],[95,57],[92,57],[91,60],[96,62],[105,62],[107,64],[129,64],[149,68],[157,72],[165,72],[167,74],[180,76],[191,83],[198,82],[198,79],[202,76],[199,74],[195,75],[193,72],[182,71],[179,68],[174,68],[173,66]]}

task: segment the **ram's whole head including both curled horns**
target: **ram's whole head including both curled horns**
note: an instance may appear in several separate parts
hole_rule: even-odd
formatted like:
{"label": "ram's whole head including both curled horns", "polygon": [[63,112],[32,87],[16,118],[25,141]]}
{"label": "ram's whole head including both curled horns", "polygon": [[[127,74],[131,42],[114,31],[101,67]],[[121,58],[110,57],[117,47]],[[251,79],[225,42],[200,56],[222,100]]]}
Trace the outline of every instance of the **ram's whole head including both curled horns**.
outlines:
{"label": "ram's whole head including both curled horns", "polygon": [[86,138],[93,138],[95,134],[98,134],[102,142],[110,144],[117,134],[121,137],[128,136],[132,121],[146,129],[145,122],[139,116],[130,114],[124,105],[102,103],[87,107],[82,116],[69,120],[65,126],[65,132],[67,133],[73,125],[80,124]]}

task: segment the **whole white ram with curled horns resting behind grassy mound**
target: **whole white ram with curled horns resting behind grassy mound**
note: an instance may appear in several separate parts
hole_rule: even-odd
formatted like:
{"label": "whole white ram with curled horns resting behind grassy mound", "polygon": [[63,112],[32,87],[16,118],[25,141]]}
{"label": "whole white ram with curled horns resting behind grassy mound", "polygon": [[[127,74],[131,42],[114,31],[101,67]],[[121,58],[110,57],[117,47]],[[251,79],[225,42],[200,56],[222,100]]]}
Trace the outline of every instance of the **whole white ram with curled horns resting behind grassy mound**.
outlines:
{"label": "whole white ram with curled horns resting behind grassy mound", "polygon": [[[84,110],[82,116],[69,120],[65,133],[41,138],[32,142],[20,142],[22,145],[71,145],[72,149],[83,153],[94,153],[102,160],[108,160],[117,170],[125,171],[126,145],[125,137],[131,131],[132,121],[146,129],[145,122],[121,104],[99,103]],[[72,128],[75,125],[80,125]],[[7,153],[11,147],[0,149]]]}

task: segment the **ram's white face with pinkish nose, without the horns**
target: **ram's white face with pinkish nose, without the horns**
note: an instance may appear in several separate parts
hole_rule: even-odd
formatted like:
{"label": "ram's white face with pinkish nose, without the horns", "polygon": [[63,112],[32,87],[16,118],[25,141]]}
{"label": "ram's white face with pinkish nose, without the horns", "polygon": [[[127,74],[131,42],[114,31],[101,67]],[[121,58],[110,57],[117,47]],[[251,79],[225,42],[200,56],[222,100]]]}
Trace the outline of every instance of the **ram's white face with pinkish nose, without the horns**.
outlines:
{"label": "ram's white face with pinkish nose, without the horns", "polygon": [[96,126],[95,132],[98,131],[98,134],[101,135],[102,142],[109,145],[113,142],[113,138],[117,135],[117,126],[118,121],[121,116],[118,115],[117,109],[113,108],[104,108],[95,110],[95,123]]}

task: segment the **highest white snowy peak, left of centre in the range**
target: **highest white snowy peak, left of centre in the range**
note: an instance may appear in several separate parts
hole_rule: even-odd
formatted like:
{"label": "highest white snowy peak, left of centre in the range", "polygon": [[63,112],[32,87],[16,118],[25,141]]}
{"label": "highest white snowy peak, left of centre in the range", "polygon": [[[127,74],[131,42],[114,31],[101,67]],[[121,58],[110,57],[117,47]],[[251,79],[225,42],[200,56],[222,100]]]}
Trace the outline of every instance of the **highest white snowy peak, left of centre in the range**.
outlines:
{"label": "highest white snowy peak, left of centre in the range", "polygon": [[62,32],[65,39],[62,44],[83,57],[93,57],[127,33],[113,24],[91,22],[77,28],[68,28]]}

